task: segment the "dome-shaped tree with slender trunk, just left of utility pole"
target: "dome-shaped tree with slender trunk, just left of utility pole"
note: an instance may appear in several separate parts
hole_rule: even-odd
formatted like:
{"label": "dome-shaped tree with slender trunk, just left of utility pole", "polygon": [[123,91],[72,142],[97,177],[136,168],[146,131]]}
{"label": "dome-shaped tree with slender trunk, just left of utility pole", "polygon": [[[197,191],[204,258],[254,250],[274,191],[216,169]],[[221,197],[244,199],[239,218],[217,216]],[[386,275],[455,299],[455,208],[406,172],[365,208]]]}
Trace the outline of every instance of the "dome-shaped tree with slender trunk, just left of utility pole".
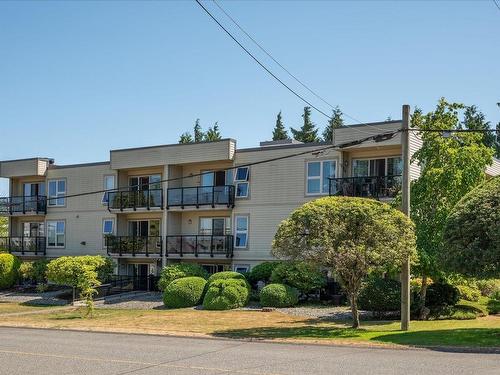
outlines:
{"label": "dome-shaped tree with slender trunk, just left of utility pole", "polygon": [[349,296],[353,326],[362,280],[378,270],[399,269],[414,258],[415,235],[402,212],[372,199],[325,197],[308,202],[281,222],[272,253],[332,269]]}

